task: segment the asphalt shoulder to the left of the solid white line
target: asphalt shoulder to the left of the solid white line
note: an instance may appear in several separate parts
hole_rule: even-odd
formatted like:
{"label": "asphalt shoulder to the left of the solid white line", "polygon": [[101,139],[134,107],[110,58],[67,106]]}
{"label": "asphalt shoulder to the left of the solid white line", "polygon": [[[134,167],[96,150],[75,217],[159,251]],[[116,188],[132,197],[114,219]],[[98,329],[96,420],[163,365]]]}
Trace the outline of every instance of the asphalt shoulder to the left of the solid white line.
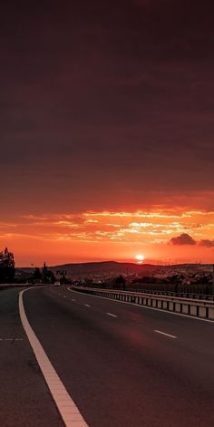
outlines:
{"label": "asphalt shoulder to the left of the solid white line", "polygon": [[0,292],[0,425],[62,427],[20,322],[18,293]]}

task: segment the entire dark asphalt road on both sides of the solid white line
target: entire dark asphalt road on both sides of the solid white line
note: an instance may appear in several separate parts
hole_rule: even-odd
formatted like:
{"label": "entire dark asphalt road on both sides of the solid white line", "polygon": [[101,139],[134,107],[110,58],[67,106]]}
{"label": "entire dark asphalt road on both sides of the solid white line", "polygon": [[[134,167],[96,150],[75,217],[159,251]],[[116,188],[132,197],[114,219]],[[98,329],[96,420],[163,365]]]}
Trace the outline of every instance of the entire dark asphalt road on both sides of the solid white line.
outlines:
{"label": "entire dark asphalt road on both sides of the solid white line", "polygon": [[[62,425],[20,325],[17,294],[0,293],[0,338],[24,339],[0,341],[0,425]],[[213,427],[214,324],[60,286],[25,292],[24,307],[90,427]]]}

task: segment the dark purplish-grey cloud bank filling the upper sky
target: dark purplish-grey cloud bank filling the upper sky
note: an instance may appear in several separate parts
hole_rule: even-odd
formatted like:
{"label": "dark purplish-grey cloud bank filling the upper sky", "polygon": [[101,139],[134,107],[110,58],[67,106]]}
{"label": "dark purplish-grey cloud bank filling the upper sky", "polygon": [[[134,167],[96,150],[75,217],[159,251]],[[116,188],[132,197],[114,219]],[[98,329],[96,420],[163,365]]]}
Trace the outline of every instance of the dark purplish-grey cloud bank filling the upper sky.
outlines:
{"label": "dark purplish-grey cloud bank filling the upper sky", "polygon": [[212,190],[212,9],[199,0],[1,2],[5,199],[33,206],[40,195],[41,205],[72,209],[87,199],[107,206],[112,189],[119,205],[126,191],[149,200],[155,190]]}

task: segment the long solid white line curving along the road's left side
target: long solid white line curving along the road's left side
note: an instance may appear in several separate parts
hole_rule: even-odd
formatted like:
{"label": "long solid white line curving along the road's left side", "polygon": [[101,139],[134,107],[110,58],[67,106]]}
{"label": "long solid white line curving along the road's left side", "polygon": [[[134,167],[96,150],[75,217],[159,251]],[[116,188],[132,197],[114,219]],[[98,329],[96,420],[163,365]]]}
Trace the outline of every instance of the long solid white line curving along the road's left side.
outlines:
{"label": "long solid white line curving along the road's left side", "polygon": [[[32,287],[31,289],[34,289]],[[34,330],[28,322],[27,316],[24,311],[23,294],[30,289],[25,289],[19,293],[19,314],[24,327],[24,331],[28,337],[30,345],[33,348],[34,355],[40,366],[44,379],[49,387],[53,396],[53,400],[63,418],[65,427],[88,427],[84,421],[83,416],[79,412],[77,406],[73,402],[70,394],[65,389],[61,379],[56,374],[53,365],[44,352],[43,346],[40,344]]]}

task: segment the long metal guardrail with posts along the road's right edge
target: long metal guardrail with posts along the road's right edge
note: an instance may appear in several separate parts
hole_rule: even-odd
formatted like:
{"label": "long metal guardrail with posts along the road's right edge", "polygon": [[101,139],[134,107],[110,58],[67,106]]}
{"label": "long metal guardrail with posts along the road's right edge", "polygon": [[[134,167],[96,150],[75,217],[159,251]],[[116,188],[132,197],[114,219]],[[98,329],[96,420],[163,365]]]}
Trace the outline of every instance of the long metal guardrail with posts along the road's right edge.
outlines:
{"label": "long metal guardrail with posts along the road's right edge", "polygon": [[148,306],[163,311],[191,315],[214,321],[214,302],[196,298],[143,294],[110,289],[94,289],[92,287],[72,286],[74,290],[86,294],[102,296],[116,301],[128,302],[136,306]]}

